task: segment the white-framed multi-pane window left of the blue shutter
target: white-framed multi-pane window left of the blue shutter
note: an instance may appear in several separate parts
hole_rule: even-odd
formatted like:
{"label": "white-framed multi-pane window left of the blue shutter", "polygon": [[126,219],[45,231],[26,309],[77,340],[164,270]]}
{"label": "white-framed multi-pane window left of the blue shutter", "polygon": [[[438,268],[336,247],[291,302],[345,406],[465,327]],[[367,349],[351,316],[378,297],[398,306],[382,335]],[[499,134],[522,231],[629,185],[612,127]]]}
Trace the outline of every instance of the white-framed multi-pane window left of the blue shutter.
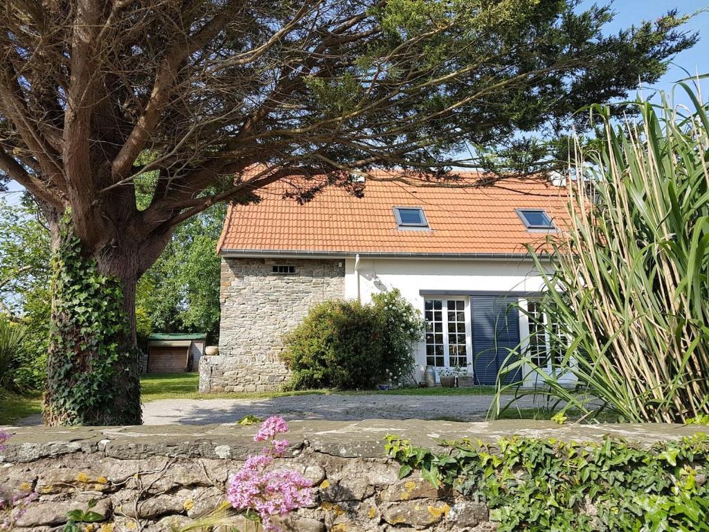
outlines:
{"label": "white-framed multi-pane window left of the blue shutter", "polygon": [[472,365],[470,302],[467,298],[424,300],[426,365]]}

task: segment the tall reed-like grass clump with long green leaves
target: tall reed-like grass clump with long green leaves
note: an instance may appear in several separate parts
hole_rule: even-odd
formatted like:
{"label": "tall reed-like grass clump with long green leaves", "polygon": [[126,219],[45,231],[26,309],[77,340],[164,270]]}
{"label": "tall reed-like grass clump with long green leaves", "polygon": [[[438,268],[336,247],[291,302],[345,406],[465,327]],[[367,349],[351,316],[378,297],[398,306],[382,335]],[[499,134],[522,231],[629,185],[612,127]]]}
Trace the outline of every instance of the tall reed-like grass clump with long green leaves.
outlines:
{"label": "tall reed-like grass clump with long green leaves", "polygon": [[[593,108],[605,138],[570,169],[571,226],[551,241],[554,273],[535,257],[557,324],[547,335],[561,348],[552,372],[529,353],[508,366],[542,384],[518,394],[548,394],[588,418],[709,413],[709,107],[688,85],[676,90],[691,109],[637,101],[638,119],[615,126]],[[578,390],[559,378],[569,374]]]}

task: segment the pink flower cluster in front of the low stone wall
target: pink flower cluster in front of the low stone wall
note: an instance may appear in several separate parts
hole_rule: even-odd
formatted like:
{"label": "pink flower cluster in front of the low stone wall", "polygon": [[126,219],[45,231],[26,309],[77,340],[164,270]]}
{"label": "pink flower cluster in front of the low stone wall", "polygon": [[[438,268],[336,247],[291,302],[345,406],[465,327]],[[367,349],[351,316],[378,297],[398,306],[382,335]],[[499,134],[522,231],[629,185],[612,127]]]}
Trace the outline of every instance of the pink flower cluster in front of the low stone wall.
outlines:
{"label": "pink flower cluster in front of the low stone wall", "polygon": [[260,455],[249,456],[244,466],[232,478],[227,500],[245,517],[261,523],[265,531],[277,530],[272,518],[289,514],[294,509],[312,504],[313,484],[302,475],[289,470],[269,470],[275,458],[288,448],[287,440],[276,436],[288,432],[283,418],[271,416],[264,421],[255,441],[268,442]]}

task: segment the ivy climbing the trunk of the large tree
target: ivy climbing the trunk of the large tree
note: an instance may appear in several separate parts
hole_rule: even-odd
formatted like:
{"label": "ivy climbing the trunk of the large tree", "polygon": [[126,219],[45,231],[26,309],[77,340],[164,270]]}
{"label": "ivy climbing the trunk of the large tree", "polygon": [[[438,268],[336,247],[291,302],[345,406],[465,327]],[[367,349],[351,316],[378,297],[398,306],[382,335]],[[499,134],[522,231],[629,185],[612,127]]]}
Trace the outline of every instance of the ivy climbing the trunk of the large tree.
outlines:
{"label": "ivy climbing the trunk of the large tree", "polygon": [[130,327],[135,279],[102,270],[85,256],[63,217],[52,253],[48,425],[141,423],[138,350]]}

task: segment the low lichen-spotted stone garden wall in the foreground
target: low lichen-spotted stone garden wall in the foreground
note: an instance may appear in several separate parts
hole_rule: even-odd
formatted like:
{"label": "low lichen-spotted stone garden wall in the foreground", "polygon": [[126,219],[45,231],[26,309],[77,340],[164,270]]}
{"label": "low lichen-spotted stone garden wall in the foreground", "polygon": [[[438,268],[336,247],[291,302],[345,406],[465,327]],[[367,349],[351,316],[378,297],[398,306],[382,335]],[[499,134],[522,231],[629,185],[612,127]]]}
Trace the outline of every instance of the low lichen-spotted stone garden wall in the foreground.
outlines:
{"label": "low lichen-spotted stone garden wall in the foreground", "polygon": [[[600,440],[605,433],[640,445],[709,428],[671,425],[559,426],[544,421],[291,422],[291,443],[276,467],[313,482],[313,504],[281,523],[284,532],[493,531],[485,504],[435,489],[418,475],[398,480],[399,465],[384,453],[397,434],[435,448],[437,438],[491,442],[518,433],[559,440]],[[9,429],[0,450],[0,489],[39,494],[18,532],[58,532],[67,511],[90,500],[102,516],[94,531],[168,532],[210,514],[224,501],[230,477],[261,444],[258,426],[142,426]],[[23,485],[24,484],[24,485]],[[242,528],[242,518],[236,526]],[[99,528],[103,526],[104,528]],[[218,530],[223,530],[218,528]]]}

